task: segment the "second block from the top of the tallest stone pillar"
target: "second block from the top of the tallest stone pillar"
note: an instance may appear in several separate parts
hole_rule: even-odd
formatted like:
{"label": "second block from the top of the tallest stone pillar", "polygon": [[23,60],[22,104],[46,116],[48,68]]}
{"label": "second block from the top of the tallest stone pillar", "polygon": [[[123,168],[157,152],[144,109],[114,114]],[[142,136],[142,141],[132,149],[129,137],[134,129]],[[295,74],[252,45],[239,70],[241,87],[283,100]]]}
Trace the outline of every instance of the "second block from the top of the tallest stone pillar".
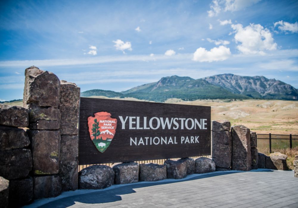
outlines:
{"label": "second block from the top of the tallest stone pillar", "polygon": [[56,130],[60,127],[60,110],[54,107],[30,106],[30,129]]}

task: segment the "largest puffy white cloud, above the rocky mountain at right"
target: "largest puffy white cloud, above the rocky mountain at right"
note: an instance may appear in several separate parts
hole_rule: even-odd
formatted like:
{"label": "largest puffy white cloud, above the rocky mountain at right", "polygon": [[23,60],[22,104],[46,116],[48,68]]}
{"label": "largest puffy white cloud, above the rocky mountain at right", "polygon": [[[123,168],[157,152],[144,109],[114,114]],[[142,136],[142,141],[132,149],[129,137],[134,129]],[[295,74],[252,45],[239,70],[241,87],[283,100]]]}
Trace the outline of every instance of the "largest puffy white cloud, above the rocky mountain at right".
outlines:
{"label": "largest puffy white cloud, above the rocky mountain at right", "polygon": [[235,42],[241,44],[237,49],[244,54],[264,55],[266,50],[271,51],[277,48],[271,32],[260,24],[250,24],[243,28],[241,24],[232,24],[235,33]]}

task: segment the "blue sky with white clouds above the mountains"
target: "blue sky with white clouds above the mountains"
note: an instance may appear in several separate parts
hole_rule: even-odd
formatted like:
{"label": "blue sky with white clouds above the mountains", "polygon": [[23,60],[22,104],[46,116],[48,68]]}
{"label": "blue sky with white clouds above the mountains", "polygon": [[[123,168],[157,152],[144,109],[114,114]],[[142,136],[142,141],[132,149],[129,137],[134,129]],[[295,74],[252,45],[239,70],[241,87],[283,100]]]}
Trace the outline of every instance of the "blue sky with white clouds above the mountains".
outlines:
{"label": "blue sky with white clouds above the mountains", "polygon": [[263,75],[298,88],[298,1],[1,1],[0,100],[24,70],[81,91],[164,76]]}

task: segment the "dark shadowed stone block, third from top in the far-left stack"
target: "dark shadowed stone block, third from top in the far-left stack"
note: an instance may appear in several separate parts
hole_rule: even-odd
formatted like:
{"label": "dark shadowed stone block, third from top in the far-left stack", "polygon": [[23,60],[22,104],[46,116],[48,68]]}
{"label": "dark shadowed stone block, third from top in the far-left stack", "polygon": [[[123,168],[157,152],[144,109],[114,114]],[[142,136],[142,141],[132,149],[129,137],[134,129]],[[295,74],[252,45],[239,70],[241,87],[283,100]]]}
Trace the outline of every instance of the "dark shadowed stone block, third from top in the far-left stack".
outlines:
{"label": "dark shadowed stone block, third from top in the far-left stack", "polygon": [[32,169],[30,149],[0,151],[0,175],[7,179],[25,178]]}

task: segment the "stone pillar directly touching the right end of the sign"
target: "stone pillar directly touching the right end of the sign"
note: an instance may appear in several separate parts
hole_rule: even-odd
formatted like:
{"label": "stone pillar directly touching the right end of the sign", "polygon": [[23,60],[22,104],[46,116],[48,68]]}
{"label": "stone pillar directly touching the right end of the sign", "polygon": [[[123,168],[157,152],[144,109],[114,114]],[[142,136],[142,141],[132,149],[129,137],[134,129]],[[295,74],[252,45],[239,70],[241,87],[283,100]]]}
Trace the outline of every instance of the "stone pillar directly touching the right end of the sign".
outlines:
{"label": "stone pillar directly touching the right end of the sign", "polygon": [[212,160],[216,169],[223,171],[231,168],[232,138],[231,123],[227,120],[212,121]]}

